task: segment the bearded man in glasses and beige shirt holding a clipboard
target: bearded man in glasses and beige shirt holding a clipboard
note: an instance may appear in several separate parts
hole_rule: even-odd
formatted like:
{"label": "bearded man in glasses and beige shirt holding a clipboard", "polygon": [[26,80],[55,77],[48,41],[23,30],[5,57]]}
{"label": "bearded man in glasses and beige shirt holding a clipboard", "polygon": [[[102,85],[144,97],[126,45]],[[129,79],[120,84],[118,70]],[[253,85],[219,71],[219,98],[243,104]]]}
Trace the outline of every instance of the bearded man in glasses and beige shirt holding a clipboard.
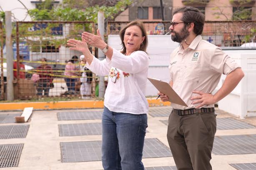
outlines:
{"label": "bearded man in glasses and beige shirt holding a clipboard", "polygon": [[[173,13],[171,38],[180,47],[171,53],[170,85],[188,107],[172,103],[167,138],[178,170],[211,170],[211,150],[216,133],[214,103],[228,95],[244,74],[219,47],[201,37],[205,17],[197,8]],[[216,94],[221,74],[226,79]],[[159,92],[162,101],[168,97]]]}

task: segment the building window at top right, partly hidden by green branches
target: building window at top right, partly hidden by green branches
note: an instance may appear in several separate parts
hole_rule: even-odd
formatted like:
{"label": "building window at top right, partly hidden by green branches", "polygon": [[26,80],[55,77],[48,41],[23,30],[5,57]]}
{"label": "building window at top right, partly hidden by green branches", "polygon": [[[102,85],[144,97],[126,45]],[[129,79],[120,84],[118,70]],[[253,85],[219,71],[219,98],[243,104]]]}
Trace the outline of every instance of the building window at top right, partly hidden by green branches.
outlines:
{"label": "building window at top right, partly hidden by green branches", "polygon": [[251,20],[252,7],[233,7],[232,20]]}

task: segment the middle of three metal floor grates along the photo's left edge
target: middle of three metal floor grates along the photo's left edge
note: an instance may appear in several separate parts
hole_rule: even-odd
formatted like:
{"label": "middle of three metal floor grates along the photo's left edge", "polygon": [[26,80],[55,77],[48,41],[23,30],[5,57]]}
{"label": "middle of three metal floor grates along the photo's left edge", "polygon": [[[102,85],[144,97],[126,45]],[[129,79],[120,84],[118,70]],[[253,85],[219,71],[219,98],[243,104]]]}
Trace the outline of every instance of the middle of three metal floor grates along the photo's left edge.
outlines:
{"label": "middle of three metal floor grates along the photo's left edge", "polygon": [[0,126],[0,139],[25,138],[29,125]]}

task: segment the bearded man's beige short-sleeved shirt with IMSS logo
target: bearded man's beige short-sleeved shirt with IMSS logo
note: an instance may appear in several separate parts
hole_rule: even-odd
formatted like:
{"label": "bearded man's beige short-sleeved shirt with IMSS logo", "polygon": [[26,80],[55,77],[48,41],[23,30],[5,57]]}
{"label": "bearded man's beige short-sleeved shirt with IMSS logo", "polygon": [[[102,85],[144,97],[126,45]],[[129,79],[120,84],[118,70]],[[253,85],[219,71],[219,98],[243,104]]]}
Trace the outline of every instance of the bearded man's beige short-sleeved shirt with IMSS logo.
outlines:
{"label": "bearded man's beige short-sleeved shirt with IMSS logo", "polygon": [[[171,105],[181,110],[195,108],[198,104],[191,104],[193,101],[190,99],[199,94],[192,91],[212,93],[218,85],[221,74],[228,75],[238,67],[238,64],[220,47],[203,40],[201,35],[198,35],[186,50],[180,45],[171,54],[170,81],[173,81],[174,91],[188,107],[175,103]],[[203,107],[214,107],[214,105]]]}

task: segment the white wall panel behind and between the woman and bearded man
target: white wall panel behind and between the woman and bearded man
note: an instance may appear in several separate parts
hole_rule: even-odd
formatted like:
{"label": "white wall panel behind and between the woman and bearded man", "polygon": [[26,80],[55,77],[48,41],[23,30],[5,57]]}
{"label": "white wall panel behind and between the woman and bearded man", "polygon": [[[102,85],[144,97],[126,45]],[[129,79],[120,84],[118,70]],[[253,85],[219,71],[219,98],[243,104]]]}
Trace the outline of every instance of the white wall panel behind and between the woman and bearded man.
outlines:
{"label": "white wall panel behind and between the woman and bearded man", "polygon": [[[121,49],[119,35],[108,35],[108,45],[115,49]],[[170,35],[148,35],[147,52],[150,57],[148,77],[169,82],[170,54],[178,46],[179,43],[173,42]],[[146,96],[157,96],[157,93],[158,90],[148,81]]]}

